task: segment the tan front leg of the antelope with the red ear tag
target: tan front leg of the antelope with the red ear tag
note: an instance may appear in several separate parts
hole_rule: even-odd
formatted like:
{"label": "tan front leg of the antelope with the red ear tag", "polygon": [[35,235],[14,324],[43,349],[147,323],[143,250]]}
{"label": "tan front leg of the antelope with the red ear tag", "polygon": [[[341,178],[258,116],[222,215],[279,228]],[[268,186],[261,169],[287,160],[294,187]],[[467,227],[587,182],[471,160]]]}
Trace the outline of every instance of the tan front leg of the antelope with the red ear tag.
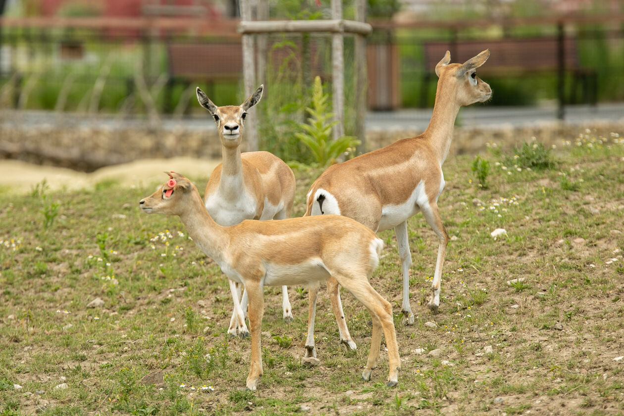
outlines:
{"label": "tan front leg of the antelope with the red ear tag", "polygon": [[245,285],[249,299],[249,326],[251,328],[251,365],[247,376],[247,390],[255,391],[258,379],[262,375],[262,350],[260,346],[260,329],[265,304],[260,283]]}

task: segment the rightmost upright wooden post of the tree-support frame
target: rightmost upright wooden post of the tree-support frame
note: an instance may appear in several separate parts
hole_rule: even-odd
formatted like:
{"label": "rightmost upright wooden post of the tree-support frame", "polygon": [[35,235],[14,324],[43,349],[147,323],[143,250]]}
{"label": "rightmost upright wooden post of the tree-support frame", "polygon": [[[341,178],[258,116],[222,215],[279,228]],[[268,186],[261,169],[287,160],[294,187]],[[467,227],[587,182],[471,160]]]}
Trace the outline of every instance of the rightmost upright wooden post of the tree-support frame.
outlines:
{"label": "rightmost upright wooden post of the tree-support frame", "polygon": [[[355,20],[364,23],[366,21],[366,0],[356,0]],[[366,152],[366,96],[368,92],[368,80],[366,77],[366,37],[361,34],[355,35],[355,135],[360,140],[357,154]]]}

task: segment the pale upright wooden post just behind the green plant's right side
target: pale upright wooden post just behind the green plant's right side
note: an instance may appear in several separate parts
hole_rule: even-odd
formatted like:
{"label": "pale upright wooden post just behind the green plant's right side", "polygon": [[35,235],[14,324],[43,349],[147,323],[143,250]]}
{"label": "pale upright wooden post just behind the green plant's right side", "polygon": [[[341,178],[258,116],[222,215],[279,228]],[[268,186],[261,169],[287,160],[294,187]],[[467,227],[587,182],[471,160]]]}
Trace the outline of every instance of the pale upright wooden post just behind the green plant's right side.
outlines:
{"label": "pale upright wooden post just behind the green plant's right side", "polygon": [[[331,0],[331,18],[343,18],[342,0]],[[331,91],[334,118],[338,123],[333,128],[333,138],[344,135],[344,43],[343,32],[331,35]]]}

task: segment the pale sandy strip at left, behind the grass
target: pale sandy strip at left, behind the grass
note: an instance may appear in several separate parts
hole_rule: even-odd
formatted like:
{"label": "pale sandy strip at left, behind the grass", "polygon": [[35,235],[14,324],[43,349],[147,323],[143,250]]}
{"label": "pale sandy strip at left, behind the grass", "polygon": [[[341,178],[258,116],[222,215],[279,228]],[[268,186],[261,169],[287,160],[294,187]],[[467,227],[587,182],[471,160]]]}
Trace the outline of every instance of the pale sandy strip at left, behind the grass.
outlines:
{"label": "pale sandy strip at left, behind the grass", "polygon": [[19,160],[0,160],[0,171],[9,174],[9,184],[5,192],[27,193],[44,179],[51,190],[91,188],[96,183],[113,179],[122,186],[142,186],[164,181],[165,170],[181,173],[189,177],[207,177],[220,163],[220,160],[200,160],[189,157],[170,159],[137,160],[123,165],[101,168],[92,173],[76,172],[67,168],[33,165]]}

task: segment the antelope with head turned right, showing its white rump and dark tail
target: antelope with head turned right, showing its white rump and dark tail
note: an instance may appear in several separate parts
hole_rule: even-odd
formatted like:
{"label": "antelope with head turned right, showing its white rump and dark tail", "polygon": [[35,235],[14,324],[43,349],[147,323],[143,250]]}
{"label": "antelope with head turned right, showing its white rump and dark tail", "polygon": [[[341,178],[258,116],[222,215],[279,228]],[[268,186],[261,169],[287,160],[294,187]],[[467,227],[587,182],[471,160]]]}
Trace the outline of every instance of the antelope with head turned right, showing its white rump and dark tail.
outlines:
{"label": "antelope with head turned right, showing its white rump and dark tail", "polygon": [[[425,132],[329,167],[314,181],[306,196],[305,215],[344,215],[375,232],[394,228],[403,274],[402,312],[407,325],[414,323],[409,306],[412,258],[407,239],[407,220],[422,211],[439,241],[429,300],[429,307],[437,311],[442,263],[449,241],[437,207],[437,198],[444,188],[442,163],[449,154],[459,108],[485,102],[492,96],[490,86],[476,74],[476,69],[489,56],[488,49],[464,64],[451,64],[451,54],[447,51],[436,65],[439,77],[436,103]],[[354,349],[356,346],[346,327],[338,284],[329,279],[327,290],[338,321],[341,342]],[[317,294],[318,289],[310,292],[311,304]]]}

